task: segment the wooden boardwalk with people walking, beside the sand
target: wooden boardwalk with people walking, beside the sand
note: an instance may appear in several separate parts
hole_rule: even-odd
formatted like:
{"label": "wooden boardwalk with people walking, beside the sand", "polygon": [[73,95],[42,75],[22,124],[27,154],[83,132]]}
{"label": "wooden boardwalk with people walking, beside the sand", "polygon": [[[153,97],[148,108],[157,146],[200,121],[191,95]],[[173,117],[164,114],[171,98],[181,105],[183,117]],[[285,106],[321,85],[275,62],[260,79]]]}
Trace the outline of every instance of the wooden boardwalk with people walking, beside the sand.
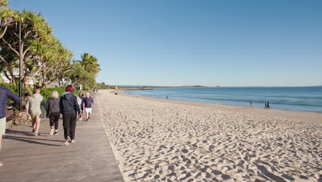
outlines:
{"label": "wooden boardwalk with people walking, beside the sand", "polygon": [[77,121],[76,143],[69,146],[64,145],[62,120],[53,136],[49,119],[41,121],[41,136],[33,136],[27,125],[7,130],[0,181],[124,181],[97,106],[89,121]]}

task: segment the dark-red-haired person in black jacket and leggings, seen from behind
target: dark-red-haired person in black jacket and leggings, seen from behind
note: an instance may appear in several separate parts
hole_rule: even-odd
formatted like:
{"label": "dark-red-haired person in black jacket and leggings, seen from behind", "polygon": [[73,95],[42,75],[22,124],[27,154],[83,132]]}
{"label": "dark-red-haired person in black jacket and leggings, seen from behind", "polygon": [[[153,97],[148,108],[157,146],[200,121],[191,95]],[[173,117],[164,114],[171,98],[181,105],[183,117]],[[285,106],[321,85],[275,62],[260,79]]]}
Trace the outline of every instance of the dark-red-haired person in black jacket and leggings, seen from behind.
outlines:
{"label": "dark-red-haired person in black jacket and leggings, seen from behind", "polygon": [[61,114],[63,114],[65,145],[75,143],[77,112],[78,117],[82,117],[81,107],[78,105],[77,96],[74,95],[73,92],[73,86],[67,85],[66,92],[61,95],[61,100],[59,102],[59,108]]}

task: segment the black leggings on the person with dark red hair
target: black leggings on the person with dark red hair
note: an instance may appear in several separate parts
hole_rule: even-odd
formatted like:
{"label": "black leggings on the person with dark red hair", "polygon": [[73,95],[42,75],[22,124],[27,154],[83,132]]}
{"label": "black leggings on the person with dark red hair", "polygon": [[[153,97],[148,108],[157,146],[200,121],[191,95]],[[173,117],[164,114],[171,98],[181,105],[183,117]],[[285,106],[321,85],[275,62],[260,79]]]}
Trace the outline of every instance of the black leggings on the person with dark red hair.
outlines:
{"label": "black leggings on the person with dark red hair", "polygon": [[72,140],[75,139],[76,115],[76,112],[63,114],[63,128],[65,139],[67,139],[67,136],[69,136]]}

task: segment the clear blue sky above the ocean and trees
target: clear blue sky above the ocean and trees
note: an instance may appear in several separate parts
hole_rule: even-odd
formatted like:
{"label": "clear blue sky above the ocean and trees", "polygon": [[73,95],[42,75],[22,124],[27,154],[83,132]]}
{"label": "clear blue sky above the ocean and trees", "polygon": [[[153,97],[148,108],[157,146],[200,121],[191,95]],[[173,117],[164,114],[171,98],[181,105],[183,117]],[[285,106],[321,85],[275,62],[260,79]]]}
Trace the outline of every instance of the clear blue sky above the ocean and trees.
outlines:
{"label": "clear blue sky above the ocean and trees", "polygon": [[322,85],[322,1],[9,0],[110,85]]}

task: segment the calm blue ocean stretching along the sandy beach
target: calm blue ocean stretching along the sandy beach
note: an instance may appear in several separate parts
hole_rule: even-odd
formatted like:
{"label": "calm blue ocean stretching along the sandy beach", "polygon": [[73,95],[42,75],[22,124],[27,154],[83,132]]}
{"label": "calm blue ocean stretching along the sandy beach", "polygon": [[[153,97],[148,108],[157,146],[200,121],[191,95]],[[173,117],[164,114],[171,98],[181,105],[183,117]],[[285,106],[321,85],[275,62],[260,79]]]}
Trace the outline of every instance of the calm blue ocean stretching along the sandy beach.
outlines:
{"label": "calm blue ocean stretching along the sandy beach", "polygon": [[265,101],[275,110],[322,112],[322,87],[298,88],[155,88],[125,90],[127,94],[160,99],[217,103],[264,108]]}

